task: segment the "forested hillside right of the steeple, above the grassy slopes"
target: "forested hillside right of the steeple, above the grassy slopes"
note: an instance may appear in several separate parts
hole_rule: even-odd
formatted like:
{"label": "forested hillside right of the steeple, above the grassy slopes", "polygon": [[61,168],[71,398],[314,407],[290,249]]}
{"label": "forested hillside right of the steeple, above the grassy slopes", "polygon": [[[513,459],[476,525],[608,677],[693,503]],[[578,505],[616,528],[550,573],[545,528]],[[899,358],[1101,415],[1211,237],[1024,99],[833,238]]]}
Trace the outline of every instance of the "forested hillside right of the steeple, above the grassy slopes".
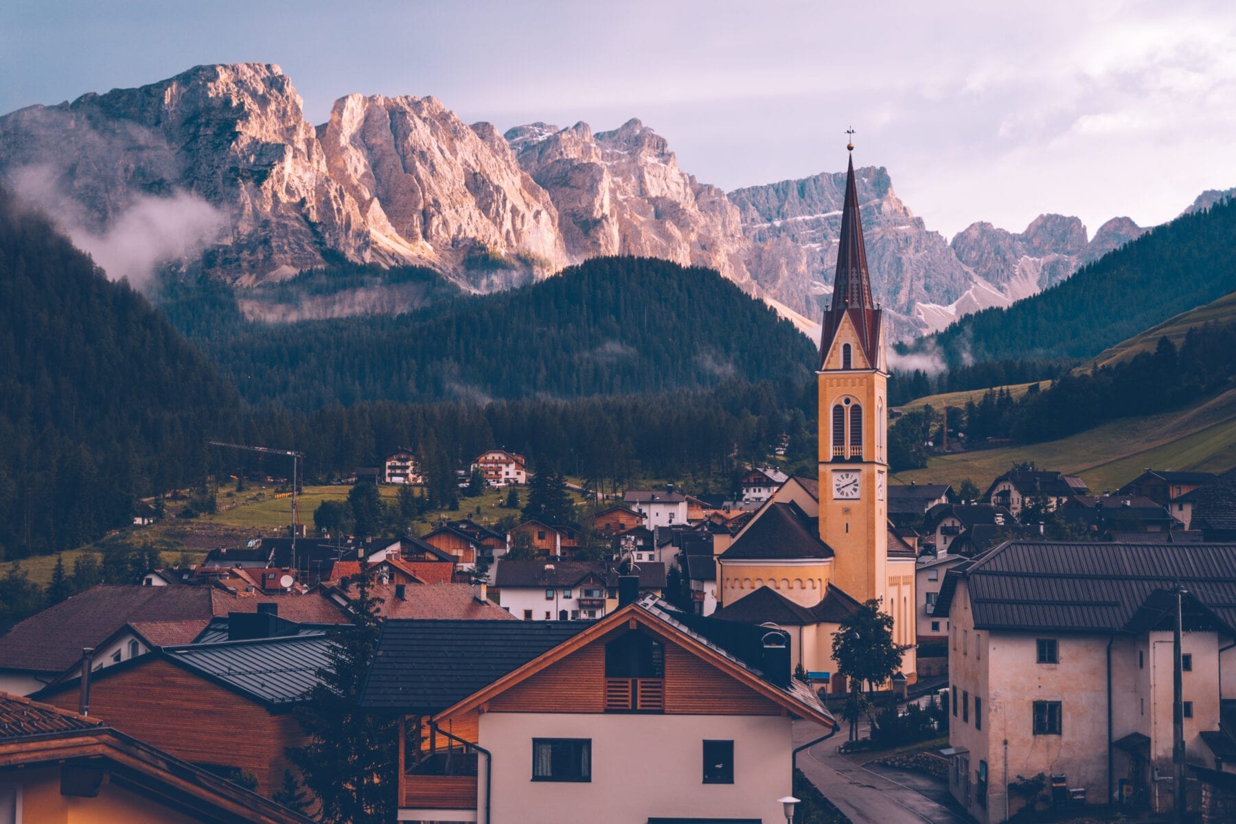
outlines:
{"label": "forested hillside right of the steeple, above the grassy slopes", "polygon": [[913,351],[948,364],[1086,358],[1182,311],[1236,290],[1236,200],[1177,217],[1068,280],[1006,309],[985,309]]}

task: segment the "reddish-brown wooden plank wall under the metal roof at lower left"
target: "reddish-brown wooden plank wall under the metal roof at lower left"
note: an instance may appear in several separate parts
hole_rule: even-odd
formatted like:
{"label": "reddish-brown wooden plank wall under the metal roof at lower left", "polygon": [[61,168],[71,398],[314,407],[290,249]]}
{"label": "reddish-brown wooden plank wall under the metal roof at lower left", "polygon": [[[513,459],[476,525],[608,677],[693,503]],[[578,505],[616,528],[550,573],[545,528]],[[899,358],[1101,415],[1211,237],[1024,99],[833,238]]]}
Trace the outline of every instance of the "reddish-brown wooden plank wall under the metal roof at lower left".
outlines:
{"label": "reddish-brown wooden plank wall under the metal roof at lower left", "polygon": [[[78,687],[41,700],[77,712]],[[272,715],[262,704],[156,658],[93,681],[90,717],[184,761],[252,773],[263,796],[279,789],[283,770],[292,766],[284,747],[308,742],[290,713]]]}

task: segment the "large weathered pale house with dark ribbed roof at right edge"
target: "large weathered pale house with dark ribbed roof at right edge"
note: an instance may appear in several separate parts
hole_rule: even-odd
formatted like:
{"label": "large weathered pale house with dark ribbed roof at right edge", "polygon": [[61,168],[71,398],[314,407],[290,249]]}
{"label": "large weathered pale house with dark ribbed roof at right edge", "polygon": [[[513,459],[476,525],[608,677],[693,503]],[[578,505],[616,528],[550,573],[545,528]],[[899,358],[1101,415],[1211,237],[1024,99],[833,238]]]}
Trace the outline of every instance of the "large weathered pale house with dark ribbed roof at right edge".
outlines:
{"label": "large weathered pale house with dark ribbed roof at right edge", "polygon": [[1011,541],[950,571],[936,605],[949,789],[967,812],[1005,820],[1025,803],[1005,788],[1039,773],[1089,804],[1170,810],[1178,583],[1190,805],[1222,794],[1196,791],[1232,768],[1220,721],[1236,684],[1220,673],[1236,666],[1236,545]]}

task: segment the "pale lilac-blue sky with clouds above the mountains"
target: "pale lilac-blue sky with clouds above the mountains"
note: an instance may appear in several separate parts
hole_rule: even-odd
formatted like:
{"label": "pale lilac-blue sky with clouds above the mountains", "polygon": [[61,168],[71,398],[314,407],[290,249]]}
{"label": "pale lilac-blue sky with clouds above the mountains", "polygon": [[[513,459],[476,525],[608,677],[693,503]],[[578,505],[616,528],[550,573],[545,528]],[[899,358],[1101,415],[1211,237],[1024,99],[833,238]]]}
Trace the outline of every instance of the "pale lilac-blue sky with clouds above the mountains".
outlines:
{"label": "pale lilac-blue sky with clouds above the mountains", "polygon": [[664,135],[701,182],[887,167],[947,237],[1047,211],[1094,233],[1236,187],[1236,4],[5,0],[0,111],[199,63],[278,63],[315,124],[345,94],[467,122]]}

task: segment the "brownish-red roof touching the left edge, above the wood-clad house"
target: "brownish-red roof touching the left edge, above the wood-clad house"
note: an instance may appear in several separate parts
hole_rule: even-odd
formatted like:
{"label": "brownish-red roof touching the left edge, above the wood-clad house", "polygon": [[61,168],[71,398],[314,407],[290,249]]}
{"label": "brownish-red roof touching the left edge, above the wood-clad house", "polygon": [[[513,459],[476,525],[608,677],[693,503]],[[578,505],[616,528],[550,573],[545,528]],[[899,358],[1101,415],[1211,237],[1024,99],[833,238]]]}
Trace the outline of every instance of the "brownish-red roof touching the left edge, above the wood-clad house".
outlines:
{"label": "brownish-red roof touching the left edge, above the wood-clad house", "polygon": [[[224,613],[226,614],[226,613]],[[0,637],[0,668],[61,672],[131,621],[211,616],[205,587],[99,584],[31,615]]]}

